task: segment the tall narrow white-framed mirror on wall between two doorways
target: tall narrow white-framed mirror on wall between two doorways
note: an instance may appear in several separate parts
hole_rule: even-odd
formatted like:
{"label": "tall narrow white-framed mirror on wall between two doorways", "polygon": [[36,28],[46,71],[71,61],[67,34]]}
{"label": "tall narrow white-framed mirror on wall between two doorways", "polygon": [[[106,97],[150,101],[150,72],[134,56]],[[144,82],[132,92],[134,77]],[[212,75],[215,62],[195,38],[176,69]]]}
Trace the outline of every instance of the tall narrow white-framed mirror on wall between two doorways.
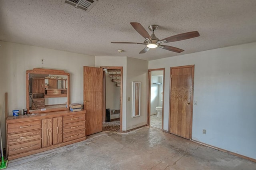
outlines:
{"label": "tall narrow white-framed mirror on wall between two doorways", "polygon": [[132,117],[140,116],[140,83],[132,82]]}

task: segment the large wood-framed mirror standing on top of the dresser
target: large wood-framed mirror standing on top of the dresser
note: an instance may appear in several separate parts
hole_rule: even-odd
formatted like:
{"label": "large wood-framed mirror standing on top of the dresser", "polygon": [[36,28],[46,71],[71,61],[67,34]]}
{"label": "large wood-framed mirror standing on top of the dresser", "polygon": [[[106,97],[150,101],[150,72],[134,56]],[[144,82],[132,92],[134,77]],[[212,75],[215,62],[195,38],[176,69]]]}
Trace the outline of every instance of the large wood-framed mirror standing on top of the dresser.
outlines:
{"label": "large wood-framed mirror standing on top of the dresser", "polygon": [[26,71],[28,113],[69,109],[70,74],[63,70],[34,68]]}

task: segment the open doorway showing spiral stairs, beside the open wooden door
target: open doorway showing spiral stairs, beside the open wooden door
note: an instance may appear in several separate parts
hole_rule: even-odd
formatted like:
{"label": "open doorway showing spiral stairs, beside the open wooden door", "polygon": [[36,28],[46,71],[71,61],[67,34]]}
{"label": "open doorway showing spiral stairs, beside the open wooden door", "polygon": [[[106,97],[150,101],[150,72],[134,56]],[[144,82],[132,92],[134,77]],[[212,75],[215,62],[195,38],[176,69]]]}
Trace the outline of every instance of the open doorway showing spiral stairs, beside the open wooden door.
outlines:
{"label": "open doorway showing spiral stairs, beside the open wooden door", "polygon": [[122,132],[122,67],[103,68],[103,131]]}

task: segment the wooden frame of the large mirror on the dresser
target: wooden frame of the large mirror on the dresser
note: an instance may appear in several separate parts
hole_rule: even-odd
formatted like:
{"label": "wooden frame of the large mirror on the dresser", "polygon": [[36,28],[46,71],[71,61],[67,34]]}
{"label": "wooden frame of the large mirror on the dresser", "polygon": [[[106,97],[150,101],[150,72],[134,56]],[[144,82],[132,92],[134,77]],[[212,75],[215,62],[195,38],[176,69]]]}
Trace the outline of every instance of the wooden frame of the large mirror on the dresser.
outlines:
{"label": "wooden frame of the large mirror on the dresser", "polygon": [[[67,107],[63,108],[51,108],[46,110],[33,110],[30,111],[29,109],[29,74],[48,74],[48,75],[66,75],[68,76],[67,81]],[[70,104],[70,73],[65,72],[64,70],[56,70],[56,69],[43,69],[43,68],[34,68],[32,70],[26,71],[26,108],[28,109],[28,113],[44,113],[44,112],[51,112],[51,111],[62,111],[62,110],[69,110]]]}

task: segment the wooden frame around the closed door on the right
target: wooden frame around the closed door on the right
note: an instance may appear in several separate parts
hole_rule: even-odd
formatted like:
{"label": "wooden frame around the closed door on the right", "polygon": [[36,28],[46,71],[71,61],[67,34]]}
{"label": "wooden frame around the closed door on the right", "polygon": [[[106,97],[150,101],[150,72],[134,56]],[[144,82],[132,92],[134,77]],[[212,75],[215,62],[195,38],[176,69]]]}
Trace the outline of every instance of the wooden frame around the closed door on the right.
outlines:
{"label": "wooden frame around the closed door on the right", "polygon": [[171,128],[171,94],[172,94],[172,69],[180,69],[180,68],[189,68],[192,67],[192,77],[191,77],[191,105],[190,105],[190,134],[189,134],[189,140],[192,139],[192,119],[193,119],[193,105],[194,105],[194,70],[195,70],[195,65],[184,65],[184,66],[178,66],[178,67],[170,67],[170,99],[169,99],[169,128],[168,128],[168,132],[170,132],[170,128]]}

